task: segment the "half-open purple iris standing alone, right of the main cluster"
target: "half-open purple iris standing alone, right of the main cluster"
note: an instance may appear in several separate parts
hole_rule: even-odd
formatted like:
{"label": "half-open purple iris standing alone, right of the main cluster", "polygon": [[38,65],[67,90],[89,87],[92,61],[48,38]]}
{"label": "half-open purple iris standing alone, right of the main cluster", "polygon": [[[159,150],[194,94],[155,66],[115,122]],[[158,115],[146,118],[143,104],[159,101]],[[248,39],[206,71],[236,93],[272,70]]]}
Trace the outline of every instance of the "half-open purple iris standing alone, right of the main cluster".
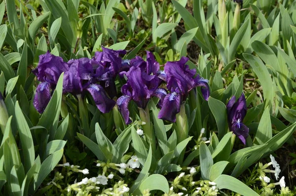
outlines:
{"label": "half-open purple iris standing alone, right of the main cluster", "polygon": [[247,104],[245,95],[242,94],[237,101],[232,96],[227,103],[227,118],[229,130],[238,136],[238,138],[246,144],[246,138],[249,135],[249,128],[243,124],[243,119],[247,114]]}

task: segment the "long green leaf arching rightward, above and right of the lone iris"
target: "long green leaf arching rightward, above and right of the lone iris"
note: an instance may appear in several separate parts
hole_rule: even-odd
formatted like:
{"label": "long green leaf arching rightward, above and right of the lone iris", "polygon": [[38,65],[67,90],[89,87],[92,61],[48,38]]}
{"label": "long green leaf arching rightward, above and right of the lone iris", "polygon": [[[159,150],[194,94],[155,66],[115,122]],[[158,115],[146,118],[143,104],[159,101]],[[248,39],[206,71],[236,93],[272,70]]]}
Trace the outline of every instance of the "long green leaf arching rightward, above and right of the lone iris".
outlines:
{"label": "long green leaf arching rightward, above and right of the lone iris", "polygon": [[273,85],[272,80],[270,78],[269,72],[263,62],[250,54],[243,54],[244,58],[250,63],[252,69],[254,70],[255,74],[258,76],[260,84],[263,89],[264,95],[264,108],[270,106],[270,112],[272,112],[272,103],[273,103]]}

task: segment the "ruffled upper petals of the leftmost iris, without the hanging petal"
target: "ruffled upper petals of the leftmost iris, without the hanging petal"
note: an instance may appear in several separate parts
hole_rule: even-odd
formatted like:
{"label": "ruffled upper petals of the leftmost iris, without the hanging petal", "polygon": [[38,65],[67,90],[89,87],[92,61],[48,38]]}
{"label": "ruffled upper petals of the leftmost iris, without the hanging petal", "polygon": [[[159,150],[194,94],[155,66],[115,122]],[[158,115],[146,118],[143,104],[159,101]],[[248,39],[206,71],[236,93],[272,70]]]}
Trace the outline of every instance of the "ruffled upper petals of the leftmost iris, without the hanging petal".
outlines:
{"label": "ruffled upper petals of the leftmost iris, without the hanging petal", "polygon": [[61,74],[68,69],[68,64],[61,57],[54,56],[48,51],[46,54],[40,55],[38,66],[32,72],[39,81],[47,81],[56,85]]}

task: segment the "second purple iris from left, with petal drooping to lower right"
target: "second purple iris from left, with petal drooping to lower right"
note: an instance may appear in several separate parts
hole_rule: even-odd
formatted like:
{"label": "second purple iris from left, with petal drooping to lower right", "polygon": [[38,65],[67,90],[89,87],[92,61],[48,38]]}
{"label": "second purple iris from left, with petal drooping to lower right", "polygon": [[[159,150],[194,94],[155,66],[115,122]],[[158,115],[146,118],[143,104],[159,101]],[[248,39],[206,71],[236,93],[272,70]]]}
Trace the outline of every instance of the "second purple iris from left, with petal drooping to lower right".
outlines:
{"label": "second purple iris from left, with petal drooping to lower right", "polygon": [[[70,69],[64,76],[64,92],[78,95],[84,94],[86,90],[91,94],[102,113],[110,112],[115,105],[115,101],[107,96],[105,89],[101,85],[95,83],[96,76],[104,75],[104,69],[101,65],[88,58],[70,60],[68,64]],[[102,71],[103,73],[98,73]]]}

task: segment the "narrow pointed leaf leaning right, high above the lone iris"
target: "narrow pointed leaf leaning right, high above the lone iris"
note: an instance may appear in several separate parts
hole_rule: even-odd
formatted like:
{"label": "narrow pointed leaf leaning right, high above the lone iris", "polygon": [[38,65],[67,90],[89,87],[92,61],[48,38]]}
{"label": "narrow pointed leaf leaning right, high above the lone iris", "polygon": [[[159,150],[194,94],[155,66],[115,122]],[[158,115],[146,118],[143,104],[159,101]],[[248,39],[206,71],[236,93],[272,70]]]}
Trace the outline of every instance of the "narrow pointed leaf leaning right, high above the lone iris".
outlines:
{"label": "narrow pointed leaf leaning right, high above the lone iris", "polygon": [[249,24],[249,20],[246,20],[244,22],[244,24],[236,32],[234,38],[232,39],[231,44],[229,46],[229,50],[228,50],[228,62],[233,60],[233,58],[236,54],[237,47],[239,46],[242,38],[245,35],[247,28],[248,28],[248,24]]}

